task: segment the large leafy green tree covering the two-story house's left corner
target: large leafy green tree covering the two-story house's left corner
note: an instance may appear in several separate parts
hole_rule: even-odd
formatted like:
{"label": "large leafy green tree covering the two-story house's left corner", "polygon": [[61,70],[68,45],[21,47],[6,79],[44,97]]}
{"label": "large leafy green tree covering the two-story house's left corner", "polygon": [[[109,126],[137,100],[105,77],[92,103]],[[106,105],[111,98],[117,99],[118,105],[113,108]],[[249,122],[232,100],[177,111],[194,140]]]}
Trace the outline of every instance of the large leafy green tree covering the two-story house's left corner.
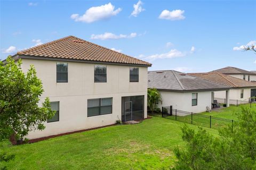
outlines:
{"label": "large leafy green tree covering the two-story house's left corner", "polygon": [[[51,110],[49,98],[40,107],[43,93],[41,80],[36,77],[34,66],[27,73],[21,70],[21,60],[16,63],[9,56],[5,65],[0,61],[0,142],[10,139],[23,140],[31,130],[43,130],[43,124],[55,111]],[[0,154],[0,162],[7,162],[13,155]]]}

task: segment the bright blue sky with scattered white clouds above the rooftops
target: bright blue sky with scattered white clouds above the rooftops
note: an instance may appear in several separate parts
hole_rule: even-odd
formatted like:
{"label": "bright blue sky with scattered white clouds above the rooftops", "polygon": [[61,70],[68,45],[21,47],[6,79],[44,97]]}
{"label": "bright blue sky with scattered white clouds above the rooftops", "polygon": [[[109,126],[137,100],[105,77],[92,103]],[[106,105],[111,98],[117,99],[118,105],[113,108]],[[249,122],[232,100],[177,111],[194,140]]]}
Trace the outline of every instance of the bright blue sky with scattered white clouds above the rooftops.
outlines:
{"label": "bright blue sky with scattered white clouds above the rooftops", "polygon": [[76,36],[153,64],[149,70],[256,70],[256,1],[2,1],[0,60]]}

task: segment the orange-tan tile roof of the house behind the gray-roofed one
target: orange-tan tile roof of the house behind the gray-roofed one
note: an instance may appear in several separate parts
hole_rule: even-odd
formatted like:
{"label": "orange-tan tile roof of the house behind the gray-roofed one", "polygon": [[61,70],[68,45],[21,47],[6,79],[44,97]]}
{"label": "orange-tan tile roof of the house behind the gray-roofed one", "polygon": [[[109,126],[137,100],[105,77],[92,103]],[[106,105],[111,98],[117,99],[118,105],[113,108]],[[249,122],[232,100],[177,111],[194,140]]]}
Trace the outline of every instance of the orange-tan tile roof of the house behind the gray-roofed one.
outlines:
{"label": "orange-tan tile roof of the house behind the gray-roofed one", "polygon": [[231,77],[230,75],[221,74],[217,72],[209,73],[188,73],[194,77],[202,78],[209,80],[215,83],[219,83],[225,86],[233,88],[242,88],[242,87],[256,87],[256,83],[251,81],[246,81],[238,78]]}

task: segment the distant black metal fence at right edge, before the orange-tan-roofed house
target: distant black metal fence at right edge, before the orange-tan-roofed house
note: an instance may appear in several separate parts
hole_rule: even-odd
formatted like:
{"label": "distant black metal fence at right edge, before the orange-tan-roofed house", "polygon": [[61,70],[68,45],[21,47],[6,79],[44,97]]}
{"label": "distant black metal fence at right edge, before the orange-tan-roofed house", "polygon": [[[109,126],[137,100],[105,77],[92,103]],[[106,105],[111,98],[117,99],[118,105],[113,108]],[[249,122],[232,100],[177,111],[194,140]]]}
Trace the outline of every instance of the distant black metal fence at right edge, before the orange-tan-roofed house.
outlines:
{"label": "distant black metal fence at right edge, before the orange-tan-roofed house", "polygon": [[[225,98],[214,98],[214,100],[217,100],[218,103],[227,104]],[[235,99],[229,99],[230,105],[248,105],[251,108],[256,107],[256,99],[255,98],[249,98],[248,100],[235,100]]]}

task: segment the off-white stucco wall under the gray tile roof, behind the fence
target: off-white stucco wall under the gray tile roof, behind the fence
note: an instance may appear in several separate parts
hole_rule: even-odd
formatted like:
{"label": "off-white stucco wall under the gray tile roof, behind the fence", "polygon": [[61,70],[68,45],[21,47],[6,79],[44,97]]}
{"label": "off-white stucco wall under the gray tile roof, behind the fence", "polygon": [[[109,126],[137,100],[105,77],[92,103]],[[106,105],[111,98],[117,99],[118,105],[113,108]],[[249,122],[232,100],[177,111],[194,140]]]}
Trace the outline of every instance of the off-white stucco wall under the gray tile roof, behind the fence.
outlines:
{"label": "off-white stucco wall under the gray tile roof, behind the fence", "polygon": [[192,93],[196,92],[172,92],[160,91],[162,96],[162,104],[159,103],[158,107],[171,106],[173,109],[178,109],[186,112],[201,113],[206,111],[206,106],[211,107],[211,91],[197,92],[197,106],[192,106]]}

